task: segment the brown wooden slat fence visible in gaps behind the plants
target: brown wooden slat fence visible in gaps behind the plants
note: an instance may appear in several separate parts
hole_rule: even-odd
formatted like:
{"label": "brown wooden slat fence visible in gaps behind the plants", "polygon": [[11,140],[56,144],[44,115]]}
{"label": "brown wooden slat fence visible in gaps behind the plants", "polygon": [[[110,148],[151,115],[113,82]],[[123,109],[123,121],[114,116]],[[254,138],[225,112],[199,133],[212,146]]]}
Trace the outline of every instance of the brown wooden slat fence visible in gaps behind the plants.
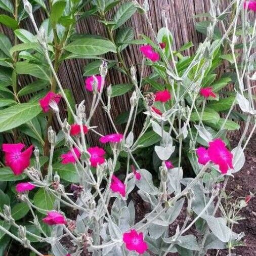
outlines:
{"label": "brown wooden slat fence visible in gaps behind the plants", "polygon": [[[127,0],[124,0],[125,2]],[[143,3],[144,0],[139,0],[139,3]],[[222,10],[227,7],[228,3],[231,0],[221,0]],[[149,0],[150,12],[149,19],[152,22],[153,29],[157,32],[161,27],[164,26],[161,19],[161,12],[163,7],[169,8],[169,29],[174,34],[174,50],[179,49],[188,41],[192,41],[195,45],[194,48],[191,48],[186,53],[193,53],[195,48],[198,46],[199,42],[202,41],[203,36],[200,33],[197,33],[194,27],[195,19],[194,15],[201,14],[209,11],[209,0]],[[110,16],[112,13],[109,14]],[[44,20],[44,12],[37,11],[35,13],[36,21],[38,25]],[[201,20],[197,19],[197,21]],[[254,19],[254,17],[252,17]],[[152,31],[150,30],[146,19],[143,15],[136,13],[129,21],[126,22],[127,26],[133,27],[135,30],[135,38],[139,38],[140,34],[145,34],[153,38]],[[28,19],[26,19],[21,26],[27,30],[33,31],[32,25]],[[0,25],[0,31],[4,32],[12,38],[12,33],[9,29]],[[97,35],[106,36],[106,31],[104,26],[97,22],[96,18],[84,19],[77,24],[78,33],[91,33]],[[140,63],[142,60],[142,55],[139,52],[139,47],[134,45],[127,48],[123,51],[124,59],[127,66],[131,64]],[[113,59],[114,55],[107,54],[107,59]],[[83,99],[86,100],[86,105],[91,106],[92,102],[92,93],[84,90],[84,78],[82,77],[83,68],[88,63],[88,60],[67,60],[63,63],[59,69],[59,77],[63,84],[64,88],[71,89],[75,98],[76,103],[80,103]],[[146,74],[149,73],[147,70]],[[22,76],[19,80],[19,86],[24,87],[27,83],[31,82],[30,77]],[[115,70],[110,70],[107,78],[107,84],[118,84],[127,82],[126,78]],[[225,89],[226,90],[226,89]],[[230,85],[227,90],[233,91],[233,86]],[[106,92],[104,92],[106,93]],[[104,95],[106,98],[106,96]],[[129,109],[130,101],[129,96],[115,97],[112,100],[112,114],[117,116],[118,114]],[[87,109],[89,113],[90,108]],[[62,106],[62,116],[65,116],[65,109]],[[143,124],[143,115],[140,115],[137,119],[136,130],[139,131]],[[99,126],[99,132],[102,134],[112,132],[111,124],[104,112],[104,110],[99,107],[97,113],[91,122],[92,125]],[[240,135],[243,129],[243,122],[240,123],[241,130],[231,132],[231,137],[237,137]],[[57,127],[57,124],[55,123]],[[118,127],[121,131],[123,127]],[[98,137],[94,134],[89,134],[89,142],[96,143]]]}

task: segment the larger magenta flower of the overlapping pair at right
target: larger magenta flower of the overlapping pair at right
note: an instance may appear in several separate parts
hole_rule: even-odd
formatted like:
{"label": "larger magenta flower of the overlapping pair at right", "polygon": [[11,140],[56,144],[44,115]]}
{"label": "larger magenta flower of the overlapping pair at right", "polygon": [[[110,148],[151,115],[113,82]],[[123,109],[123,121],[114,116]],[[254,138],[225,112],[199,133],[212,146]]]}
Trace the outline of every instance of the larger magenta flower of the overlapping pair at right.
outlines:
{"label": "larger magenta flower of the overlapping pair at right", "polygon": [[212,162],[219,165],[223,174],[226,174],[229,168],[233,168],[233,155],[221,139],[209,142],[208,155]]}

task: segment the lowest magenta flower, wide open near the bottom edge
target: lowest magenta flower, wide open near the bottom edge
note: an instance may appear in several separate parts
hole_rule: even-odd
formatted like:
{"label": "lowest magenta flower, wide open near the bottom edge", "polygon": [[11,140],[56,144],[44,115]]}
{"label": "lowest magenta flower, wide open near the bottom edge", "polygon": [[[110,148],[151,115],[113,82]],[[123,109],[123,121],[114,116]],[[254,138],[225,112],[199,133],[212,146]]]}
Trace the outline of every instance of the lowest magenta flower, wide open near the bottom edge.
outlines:
{"label": "lowest magenta flower, wide open near the bottom edge", "polygon": [[143,233],[138,233],[135,229],[124,233],[122,240],[127,250],[135,250],[143,254],[148,249],[148,244],[143,239]]}

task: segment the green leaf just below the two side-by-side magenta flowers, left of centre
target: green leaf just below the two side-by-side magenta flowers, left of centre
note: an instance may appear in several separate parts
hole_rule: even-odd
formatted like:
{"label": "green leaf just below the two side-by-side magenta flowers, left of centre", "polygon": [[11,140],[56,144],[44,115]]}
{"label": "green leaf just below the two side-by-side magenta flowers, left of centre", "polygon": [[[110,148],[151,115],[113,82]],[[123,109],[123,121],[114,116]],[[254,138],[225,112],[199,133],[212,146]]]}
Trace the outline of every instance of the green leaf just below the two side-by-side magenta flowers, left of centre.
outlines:
{"label": "green leaf just below the two side-by-side magenta flowers, left of centre", "polygon": [[53,165],[53,172],[57,172],[61,179],[65,181],[79,183],[79,176],[73,164],[55,163]]}

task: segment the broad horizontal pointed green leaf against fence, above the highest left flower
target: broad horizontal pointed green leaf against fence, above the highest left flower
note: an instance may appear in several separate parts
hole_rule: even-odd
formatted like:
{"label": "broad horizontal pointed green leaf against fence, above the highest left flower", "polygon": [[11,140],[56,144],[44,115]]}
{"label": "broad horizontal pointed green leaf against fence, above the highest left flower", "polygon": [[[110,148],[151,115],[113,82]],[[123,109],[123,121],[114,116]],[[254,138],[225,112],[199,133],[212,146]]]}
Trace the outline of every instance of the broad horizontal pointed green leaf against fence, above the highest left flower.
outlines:
{"label": "broad horizontal pointed green leaf against fence, above the highest left flower", "polygon": [[111,41],[93,37],[76,39],[64,49],[74,54],[88,56],[116,53],[115,45]]}

